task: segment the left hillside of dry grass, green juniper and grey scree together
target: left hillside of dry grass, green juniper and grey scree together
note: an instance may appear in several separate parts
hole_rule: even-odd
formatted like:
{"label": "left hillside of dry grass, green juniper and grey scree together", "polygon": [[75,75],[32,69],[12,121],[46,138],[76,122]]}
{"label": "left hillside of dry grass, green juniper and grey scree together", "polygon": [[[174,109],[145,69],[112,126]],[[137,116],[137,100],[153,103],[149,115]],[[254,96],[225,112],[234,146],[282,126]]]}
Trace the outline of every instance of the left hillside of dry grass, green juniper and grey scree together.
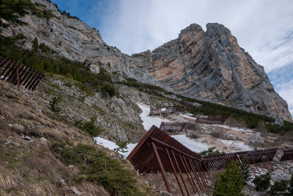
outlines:
{"label": "left hillside of dry grass, green juniper and grey scree together", "polygon": [[[125,106],[122,99],[99,97],[103,93],[91,95],[80,90],[77,83],[79,87],[69,87],[69,78],[55,77],[42,83],[44,100],[39,89],[31,92],[21,87],[18,92],[17,86],[1,96],[0,194],[152,195],[129,162],[97,145],[87,129],[74,126],[77,120],[88,122],[97,115],[94,126],[103,129],[105,138],[124,141],[129,136],[139,140],[143,135],[139,132],[141,123],[132,122],[139,122],[139,111],[127,103]],[[7,82],[0,85],[1,89],[9,87]],[[48,109],[49,100],[59,94],[63,95],[61,112],[53,113]],[[107,106],[109,100],[112,103]],[[136,104],[131,106],[139,110]],[[120,107],[131,111],[131,118]],[[132,126],[124,122],[132,122]]]}

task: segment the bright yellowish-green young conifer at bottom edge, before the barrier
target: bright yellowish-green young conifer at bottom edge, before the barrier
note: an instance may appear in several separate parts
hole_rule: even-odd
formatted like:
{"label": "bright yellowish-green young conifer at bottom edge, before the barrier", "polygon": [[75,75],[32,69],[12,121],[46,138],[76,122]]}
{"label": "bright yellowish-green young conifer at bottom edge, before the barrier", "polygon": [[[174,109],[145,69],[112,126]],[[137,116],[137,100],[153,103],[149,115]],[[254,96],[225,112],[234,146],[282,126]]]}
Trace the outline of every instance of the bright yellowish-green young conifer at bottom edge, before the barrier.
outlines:
{"label": "bright yellowish-green young conifer at bottom edge, before the barrier", "polygon": [[243,177],[241,169],[237,166],[238,161],[229,163],[225,172],[217,174],[213,195],[216,196],[245,196],[242,193]]}

